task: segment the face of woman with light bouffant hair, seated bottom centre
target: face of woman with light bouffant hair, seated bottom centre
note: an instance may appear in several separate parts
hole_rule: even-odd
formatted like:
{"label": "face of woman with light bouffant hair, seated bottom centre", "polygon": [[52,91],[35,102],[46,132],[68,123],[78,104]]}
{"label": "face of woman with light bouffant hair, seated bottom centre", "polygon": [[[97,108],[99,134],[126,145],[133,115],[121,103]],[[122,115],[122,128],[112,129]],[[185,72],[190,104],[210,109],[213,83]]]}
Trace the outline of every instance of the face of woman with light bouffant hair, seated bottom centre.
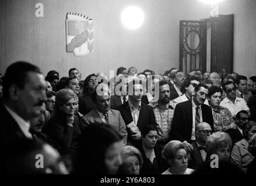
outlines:
{"label": "face of woman with light bouffant hair, seated bottom centre", "polygon": [[178,149],[171,164],[171,169],[176,174],[184,174],[188,167],[188,155],[185,149]]}

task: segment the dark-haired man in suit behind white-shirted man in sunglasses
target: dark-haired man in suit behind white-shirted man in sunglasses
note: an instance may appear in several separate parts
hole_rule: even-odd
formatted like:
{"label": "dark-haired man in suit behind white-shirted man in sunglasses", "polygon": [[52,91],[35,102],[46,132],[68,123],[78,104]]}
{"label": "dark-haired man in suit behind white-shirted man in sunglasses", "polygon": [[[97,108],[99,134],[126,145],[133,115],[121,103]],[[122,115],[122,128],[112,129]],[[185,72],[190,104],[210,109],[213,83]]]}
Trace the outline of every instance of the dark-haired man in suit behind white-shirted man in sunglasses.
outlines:
{"label": "dark-haired man in suit behind white-shirted man in sunglasses", "polygon": [[247,91],[247,77],[237,76],[236,78],[236,96],[238,98],[243,98],[244,101],[248,102],[248,99],[253,95],[250,91]]}

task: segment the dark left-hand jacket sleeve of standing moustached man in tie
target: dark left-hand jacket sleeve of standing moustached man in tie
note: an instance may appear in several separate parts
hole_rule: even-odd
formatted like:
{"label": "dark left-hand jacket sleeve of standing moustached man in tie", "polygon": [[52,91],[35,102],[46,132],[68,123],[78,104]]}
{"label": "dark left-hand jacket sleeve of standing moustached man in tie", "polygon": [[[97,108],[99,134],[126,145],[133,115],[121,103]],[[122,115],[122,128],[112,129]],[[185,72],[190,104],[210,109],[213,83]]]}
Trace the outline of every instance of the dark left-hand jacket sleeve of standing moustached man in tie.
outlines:
{"label": "dark left-hand jacket sleeve of standing moustached man in tie", "polygon": [[182,115],[181,115],[181,107],[180,105],[177,105],[174,109],[174,116],[173,116],[173,122],[171,124],[171,130],[170,130],[170,140],[178,140],[178,141],[185,141],[185,138],[183,137],[181,130],[181,121],[182,121]]}

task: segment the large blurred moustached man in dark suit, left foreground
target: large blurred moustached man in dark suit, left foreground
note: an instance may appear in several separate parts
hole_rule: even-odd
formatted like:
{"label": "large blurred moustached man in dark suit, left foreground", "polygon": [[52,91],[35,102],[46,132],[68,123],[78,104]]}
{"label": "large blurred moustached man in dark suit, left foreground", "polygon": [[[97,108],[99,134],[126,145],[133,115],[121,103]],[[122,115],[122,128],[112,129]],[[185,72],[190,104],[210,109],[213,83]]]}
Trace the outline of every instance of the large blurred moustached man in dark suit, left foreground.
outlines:
{"label": "large blurred moustached man in dark suit, left foreground", "polygon": [[37,66],[16,62],[6,69],[0,103],[0,167],[20,140],[32,138],[29,120],[40,115],[47,101],[44,88],[44,76]]}

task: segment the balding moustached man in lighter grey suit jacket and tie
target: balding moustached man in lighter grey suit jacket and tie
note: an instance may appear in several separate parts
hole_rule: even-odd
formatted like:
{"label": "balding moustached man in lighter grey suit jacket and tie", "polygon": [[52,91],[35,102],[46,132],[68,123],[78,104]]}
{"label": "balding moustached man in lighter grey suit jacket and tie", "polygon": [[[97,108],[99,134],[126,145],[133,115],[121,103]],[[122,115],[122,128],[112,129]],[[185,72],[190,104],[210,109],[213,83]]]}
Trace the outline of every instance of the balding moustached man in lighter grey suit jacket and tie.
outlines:
{"label": "balding moustached man in lighter grey suit jacket and tie", "polygon": [[[124,145],[127,143],[127,129],[118,110],[110,109],[110,87],[106,84],[99,84],[92,94],[94,109],[83,116],[81,123],[83,127],[90,124],[110,124],[122,135]],[[86,130],[86,129],[85,129]]]}

